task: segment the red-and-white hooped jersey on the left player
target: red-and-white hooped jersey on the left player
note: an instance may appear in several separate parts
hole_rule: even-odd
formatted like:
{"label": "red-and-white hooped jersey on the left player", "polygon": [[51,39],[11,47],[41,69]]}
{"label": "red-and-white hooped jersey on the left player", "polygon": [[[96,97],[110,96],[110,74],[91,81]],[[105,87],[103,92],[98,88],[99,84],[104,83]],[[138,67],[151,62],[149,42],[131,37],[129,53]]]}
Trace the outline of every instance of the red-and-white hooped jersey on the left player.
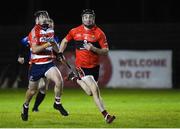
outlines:
{"label": "red-and-white hooped jersey on the left player", "polygon": [[[54,37],[54,30],[47,29],[43,30],[41,26],[35,25],[28,35],[30,44],[30,50],[32,50],[32,44],[42,45],[47,43],[48,38]],[[53,61],[53,50],[52,47],[48,47],[39,53],[31,53],[31,63],[35,64],[46,64]]]}

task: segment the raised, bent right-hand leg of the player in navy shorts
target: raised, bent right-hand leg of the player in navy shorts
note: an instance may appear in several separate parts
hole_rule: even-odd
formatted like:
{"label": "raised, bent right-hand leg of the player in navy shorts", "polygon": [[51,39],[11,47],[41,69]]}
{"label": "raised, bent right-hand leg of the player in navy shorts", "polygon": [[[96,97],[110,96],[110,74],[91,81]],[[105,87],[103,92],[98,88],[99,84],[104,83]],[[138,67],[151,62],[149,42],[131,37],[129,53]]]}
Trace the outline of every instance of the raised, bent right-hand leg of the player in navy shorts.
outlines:
{"label": "raised, bent right-hand leg of the player in navy shorts", "polygon": [[45,74],[47,79],[52,80],[55,83],[54,93],[55,93],[55,102],[54,108],[59,110],[60,113],[64,116],[68,115],[68,112],[63,108],[61,103],[61,95],[63,92],[63,79],[60,71],[57,67],[51,67]]}

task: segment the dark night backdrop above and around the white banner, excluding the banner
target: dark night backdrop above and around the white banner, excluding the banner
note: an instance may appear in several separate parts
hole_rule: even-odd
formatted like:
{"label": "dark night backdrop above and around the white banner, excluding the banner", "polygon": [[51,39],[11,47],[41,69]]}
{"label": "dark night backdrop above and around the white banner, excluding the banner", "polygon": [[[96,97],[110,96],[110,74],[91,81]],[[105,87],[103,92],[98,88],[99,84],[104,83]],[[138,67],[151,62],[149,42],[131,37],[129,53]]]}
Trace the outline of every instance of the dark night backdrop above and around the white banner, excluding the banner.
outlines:
{"label": "dark night backdrop above and around the white banner, excluding the banner", "polygon": [[19,72],[20,40],[33,27],[35,11],[49,12],[61,39],[81,24],[85,8],[95,10],[111,50],[172,50],[173,87],[180,87],[180,9],[173,0],[5,0],[0,5],[0,84],[5,73],[15,78]]}

